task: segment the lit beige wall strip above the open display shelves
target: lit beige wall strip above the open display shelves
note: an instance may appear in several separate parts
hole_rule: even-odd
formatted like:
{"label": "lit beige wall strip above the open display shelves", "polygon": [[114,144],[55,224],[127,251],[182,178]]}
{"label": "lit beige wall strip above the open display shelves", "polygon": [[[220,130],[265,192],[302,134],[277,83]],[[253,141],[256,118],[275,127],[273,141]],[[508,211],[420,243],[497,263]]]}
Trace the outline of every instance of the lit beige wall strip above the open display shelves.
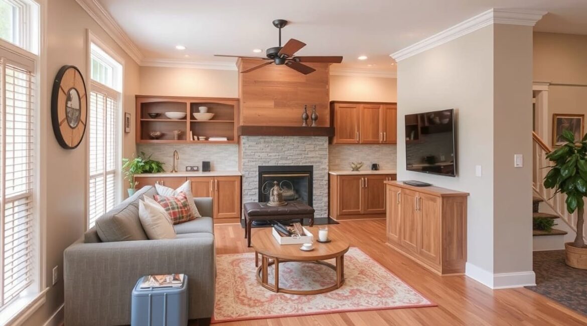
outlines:
{"label": "lit beige wall strip above the open display shelves", "polygon": [[238,97],[237,70],[140,67],[140,75],[143,95]]}

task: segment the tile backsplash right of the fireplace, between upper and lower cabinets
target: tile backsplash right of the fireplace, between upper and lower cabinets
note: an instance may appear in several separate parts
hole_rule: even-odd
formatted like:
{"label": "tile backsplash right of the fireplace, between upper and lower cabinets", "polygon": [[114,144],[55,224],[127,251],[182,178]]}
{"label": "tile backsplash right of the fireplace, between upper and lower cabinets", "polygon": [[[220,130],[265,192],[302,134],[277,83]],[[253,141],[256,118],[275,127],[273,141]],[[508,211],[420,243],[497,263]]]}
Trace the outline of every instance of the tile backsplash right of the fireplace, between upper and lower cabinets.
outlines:
{"label": "tile backsplash right of the fireplace, between upper and lower cabinets", "polygon": [[396,169],[396,145],[329,145],[328,159],[330,170],[350,170],[350,162],[363,162],[362,170],[370,169],[371,164],[379,164],[380,169]]}

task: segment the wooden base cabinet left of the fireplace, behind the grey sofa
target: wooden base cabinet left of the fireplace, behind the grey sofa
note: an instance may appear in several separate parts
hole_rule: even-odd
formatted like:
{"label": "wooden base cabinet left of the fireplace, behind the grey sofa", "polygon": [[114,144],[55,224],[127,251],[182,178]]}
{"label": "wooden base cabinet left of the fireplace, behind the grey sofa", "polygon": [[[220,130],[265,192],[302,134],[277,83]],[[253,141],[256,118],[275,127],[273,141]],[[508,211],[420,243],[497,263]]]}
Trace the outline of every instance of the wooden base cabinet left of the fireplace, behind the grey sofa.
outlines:
{"label": "wooden base cabinet left of the fireplace, behind the grey sofa", "polygon": [[194,197],[212,197],[214,223],[236,223],[241,219],[241,176],[134,176],[137,188],[160,184],[176,189],[191,181]]}

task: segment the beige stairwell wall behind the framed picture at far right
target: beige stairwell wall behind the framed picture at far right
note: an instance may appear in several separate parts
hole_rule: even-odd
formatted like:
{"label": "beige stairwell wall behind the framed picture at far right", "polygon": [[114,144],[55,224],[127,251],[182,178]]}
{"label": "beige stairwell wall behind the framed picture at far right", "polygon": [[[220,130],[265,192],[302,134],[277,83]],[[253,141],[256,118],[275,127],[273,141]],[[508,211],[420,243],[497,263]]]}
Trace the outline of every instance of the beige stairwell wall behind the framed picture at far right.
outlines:
{"label": "beige stairwell wall behind the framed picture at far right", "polygon": [[587,35],[534,33],[534,80],[548,90],[546,144],[552,145],[552,114],[587,114]]}

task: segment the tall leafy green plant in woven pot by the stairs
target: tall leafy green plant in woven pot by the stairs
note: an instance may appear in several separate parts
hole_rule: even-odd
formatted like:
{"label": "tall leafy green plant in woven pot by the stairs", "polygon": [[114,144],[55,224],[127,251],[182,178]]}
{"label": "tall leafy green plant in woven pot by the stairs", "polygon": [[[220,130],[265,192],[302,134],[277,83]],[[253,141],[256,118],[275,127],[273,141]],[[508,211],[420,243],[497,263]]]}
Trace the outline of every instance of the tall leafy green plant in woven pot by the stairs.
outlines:
{"label": "tall leafy green plant in woven pot by the stairs", "polygon": [[583,198],[587,196],[587,134],[575,140],[569,131],[562,132],[566,144],[546,155],[553,165],[544,178],[544,186],[566,195],[566,210],[577,212],[577,235],[574,242],[565,243],[566,264],[587,269],[587,247],[583,240]]}

